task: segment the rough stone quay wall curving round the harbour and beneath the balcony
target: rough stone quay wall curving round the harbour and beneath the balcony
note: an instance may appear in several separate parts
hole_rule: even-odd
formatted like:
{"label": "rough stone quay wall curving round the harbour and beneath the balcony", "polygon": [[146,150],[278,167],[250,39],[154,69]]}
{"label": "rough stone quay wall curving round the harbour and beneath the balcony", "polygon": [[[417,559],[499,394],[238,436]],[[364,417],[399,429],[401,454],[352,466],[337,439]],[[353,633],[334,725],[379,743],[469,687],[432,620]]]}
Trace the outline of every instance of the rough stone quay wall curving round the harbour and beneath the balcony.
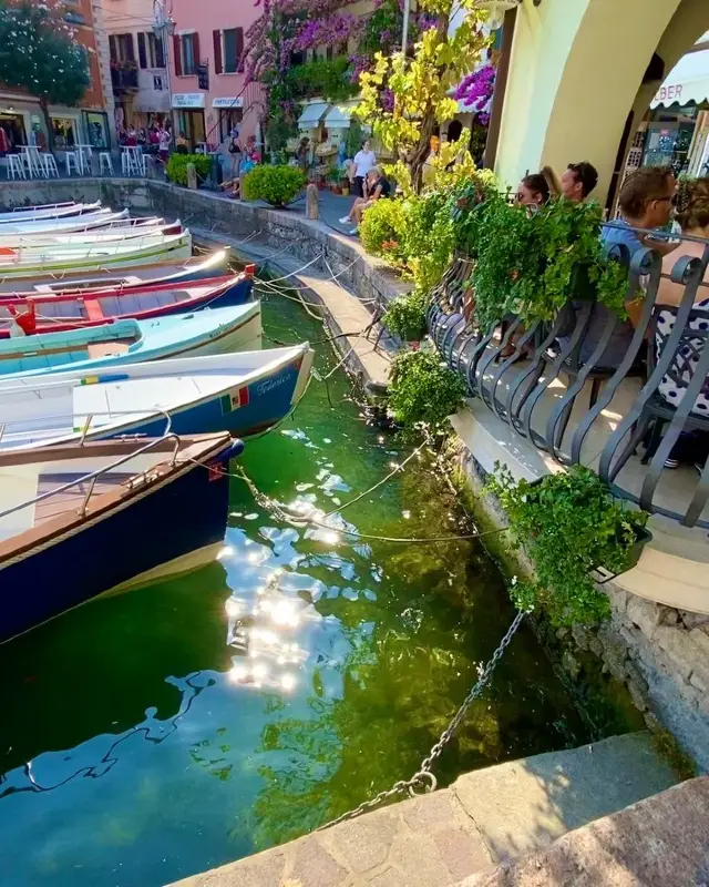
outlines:
{"label": "rough stone quay wall curving round the harbour and beneath the balcony", "polygon": [[[141,179],[35,180],[7,183],[0,191],[0,208],[71,200],[101,200],[106,206],[127,206],[138,215],[178,216],[197,231],[210,232],[214,237],[223,235],[237,248],[246,237],[276,252],[289,247],[289,256],[304,264],[314,262],[312,268],[318,272],[339,275],[341,284],[360,299],[371,299],[370,310],[408,288],[367,256],[357,242],[322,222],[307,221],[287,210],[274,211]],[[482,512],[502,526],[504,516],[481,496],[482,469],[466,450],[461,468]],[[521,563],[518,569],[525,565]],[[655,604],[613,583],[605,588],[613,605],[612,619],[599,629],[578,626],[559,632],[562,666],[574,680],[578,671],[574,651],[597,656],[627,686],[648,726],[669,730],[698,767],[709,771],[709,616]]]}

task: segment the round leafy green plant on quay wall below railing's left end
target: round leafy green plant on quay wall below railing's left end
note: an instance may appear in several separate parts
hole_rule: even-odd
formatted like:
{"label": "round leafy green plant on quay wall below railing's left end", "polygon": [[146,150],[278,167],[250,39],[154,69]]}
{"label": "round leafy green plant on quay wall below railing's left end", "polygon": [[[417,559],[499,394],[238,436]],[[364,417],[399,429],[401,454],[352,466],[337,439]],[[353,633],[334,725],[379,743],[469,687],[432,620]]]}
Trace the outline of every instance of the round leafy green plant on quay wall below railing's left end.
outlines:
{"label": "round leafy green plant on quay wall below railing's left end", "polygon": [[389,410],[404,427],[425,425],[432,432],[448,427],[463,404],[465,385],[433,351],[399,351],[391,366]]}

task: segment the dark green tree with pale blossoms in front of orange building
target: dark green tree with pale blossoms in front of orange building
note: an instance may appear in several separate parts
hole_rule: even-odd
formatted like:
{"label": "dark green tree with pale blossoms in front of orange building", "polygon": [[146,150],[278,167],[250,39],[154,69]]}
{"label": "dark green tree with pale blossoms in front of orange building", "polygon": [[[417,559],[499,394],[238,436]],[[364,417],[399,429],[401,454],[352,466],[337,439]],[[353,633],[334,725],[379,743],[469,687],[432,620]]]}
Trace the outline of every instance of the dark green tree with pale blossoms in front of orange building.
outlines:
{"label": "dark green tree with pale blossoms in front of orange building", "polygon": [[89,79],[86,50],[74,39],[61,6],[0,0],[0,81],[37,95],[50,144],[50,104],[76,104]]}

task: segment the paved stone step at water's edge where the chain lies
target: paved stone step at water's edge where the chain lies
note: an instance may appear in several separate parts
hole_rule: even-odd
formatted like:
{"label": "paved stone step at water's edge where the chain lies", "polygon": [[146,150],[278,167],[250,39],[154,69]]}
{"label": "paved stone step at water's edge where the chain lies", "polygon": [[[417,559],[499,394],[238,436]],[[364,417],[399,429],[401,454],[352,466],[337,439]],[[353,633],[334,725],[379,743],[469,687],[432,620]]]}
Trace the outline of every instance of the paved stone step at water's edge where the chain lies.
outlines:
{"label": "paved stone step at water's edge where the chain lies", "polygon": [[179,887],[438,887],[491,871],[675,783],[647,733],[465,774],[370,813],[179,881]]}

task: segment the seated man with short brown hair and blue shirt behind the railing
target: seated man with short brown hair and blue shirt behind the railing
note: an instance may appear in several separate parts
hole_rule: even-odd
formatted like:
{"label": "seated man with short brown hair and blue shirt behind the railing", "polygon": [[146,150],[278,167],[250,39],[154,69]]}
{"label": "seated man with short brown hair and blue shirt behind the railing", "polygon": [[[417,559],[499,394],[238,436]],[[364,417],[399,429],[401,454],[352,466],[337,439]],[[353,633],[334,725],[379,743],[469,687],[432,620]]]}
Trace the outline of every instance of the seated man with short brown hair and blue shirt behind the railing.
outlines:
{"label": "seated man with short brown hair and blue shirt behind the railing", "polygon": [[[644,246],[667,254],[676,248],[665,239],[651,239],[649,235],[638,235],[633,227],[661,228],[670,220],[671,201],[675,194],[675,176],[666,166],[647,166],[629,175],[618,198],[620,220],[613,227],[604,226],[602,239],[607,244],[624,243],[630,251],[630,258]],[[616,226],[617,225],[617,226]],[[564,308],[564,320],[558,341],[562,347],[568,341],[576,324],[582,303],[572,300]],[[582,343],[579,359],[586,363],[603,337],[610,312],[603,305],[595,305],[586,335]],[[634,327],[630,320],[618,320],[608,345],[598,361],[599,368],[615,369],[625,357]]]}

